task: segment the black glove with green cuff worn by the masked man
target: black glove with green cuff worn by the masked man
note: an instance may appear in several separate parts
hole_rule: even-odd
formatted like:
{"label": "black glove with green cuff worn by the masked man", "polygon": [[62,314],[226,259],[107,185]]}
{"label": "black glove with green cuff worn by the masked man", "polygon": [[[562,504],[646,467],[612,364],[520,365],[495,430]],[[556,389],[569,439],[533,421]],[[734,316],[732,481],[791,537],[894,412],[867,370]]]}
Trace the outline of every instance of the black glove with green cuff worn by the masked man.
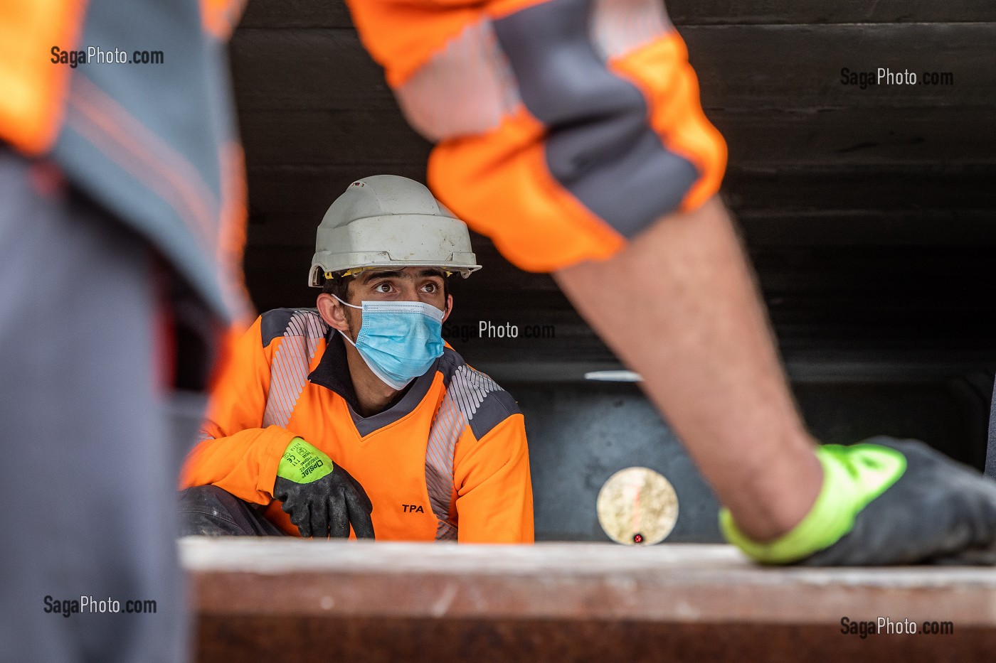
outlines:
{"label": "black glove with green cuff worn by the masked man", "polygon": [[364,487],[300,437],[280,459],[273,497],[284,503],[281,509],[302,537],[345,539],[352,525],[357,539],[373,539],[373,504]]}

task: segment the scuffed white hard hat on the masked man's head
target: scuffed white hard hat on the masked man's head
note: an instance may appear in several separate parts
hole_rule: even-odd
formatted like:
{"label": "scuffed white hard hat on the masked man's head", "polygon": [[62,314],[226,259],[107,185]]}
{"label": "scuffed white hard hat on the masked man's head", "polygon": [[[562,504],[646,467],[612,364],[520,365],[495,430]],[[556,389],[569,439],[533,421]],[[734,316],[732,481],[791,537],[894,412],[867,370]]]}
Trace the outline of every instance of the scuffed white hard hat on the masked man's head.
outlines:
{"label": "scuffed white hard hat on the masked man's head", "polygon": [[463,278],[481,269],[467,226],[418,182],[373,175],[350,184],[318,227],[308,285],[367,267],[441,267]]}

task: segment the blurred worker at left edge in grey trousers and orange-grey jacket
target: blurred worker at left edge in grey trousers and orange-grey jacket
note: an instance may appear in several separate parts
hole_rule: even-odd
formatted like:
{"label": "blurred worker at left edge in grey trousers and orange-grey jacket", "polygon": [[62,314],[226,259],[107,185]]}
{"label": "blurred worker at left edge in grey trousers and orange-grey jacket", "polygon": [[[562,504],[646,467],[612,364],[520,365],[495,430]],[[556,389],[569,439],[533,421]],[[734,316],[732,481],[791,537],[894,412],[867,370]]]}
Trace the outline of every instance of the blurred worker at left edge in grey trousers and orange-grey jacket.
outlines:
{"label": "blurred worker at left edge in grey trousers and orange-grey jacket", "polygon": [[249,309],[239,11],[0,0],[4,661],[186,658],[170,498]]}

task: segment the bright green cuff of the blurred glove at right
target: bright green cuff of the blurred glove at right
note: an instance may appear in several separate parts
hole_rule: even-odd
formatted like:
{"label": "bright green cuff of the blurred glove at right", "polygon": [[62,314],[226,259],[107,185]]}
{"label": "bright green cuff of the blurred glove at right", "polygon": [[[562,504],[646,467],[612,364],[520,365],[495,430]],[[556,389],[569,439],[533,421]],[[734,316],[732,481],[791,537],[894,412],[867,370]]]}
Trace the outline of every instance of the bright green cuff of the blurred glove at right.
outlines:
{"label": "bright green cuff of the blurred glove at right", "polygon": [[726,541],[762,563],[798,561],[851,532],[855,517],[906,471],[905,456],[876,444],[827,444],[816,455],[823,465],[823,488],[799,525],[773,542],[758,544],[740,532],[724,508],[719,511],[719,529]]}

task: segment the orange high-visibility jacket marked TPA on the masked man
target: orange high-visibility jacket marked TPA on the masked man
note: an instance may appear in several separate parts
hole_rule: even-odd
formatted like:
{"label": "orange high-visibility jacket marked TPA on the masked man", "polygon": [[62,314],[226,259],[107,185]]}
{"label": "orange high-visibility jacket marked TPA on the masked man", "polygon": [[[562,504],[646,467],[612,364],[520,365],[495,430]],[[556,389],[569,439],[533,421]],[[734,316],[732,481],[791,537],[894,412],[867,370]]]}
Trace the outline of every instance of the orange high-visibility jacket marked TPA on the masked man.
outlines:
{"label": "orange high-visibility jacket marked TPA on the masked man", "polygon": [[263,314],[236,341],[214,386],[180,488],[214,485],[298,535],[273,500],[295,437],[341,464],[373,502],[378,540],[533,541],[522,414],[452,348],[369,417],[358,414],[346,347],[313,309]]}

